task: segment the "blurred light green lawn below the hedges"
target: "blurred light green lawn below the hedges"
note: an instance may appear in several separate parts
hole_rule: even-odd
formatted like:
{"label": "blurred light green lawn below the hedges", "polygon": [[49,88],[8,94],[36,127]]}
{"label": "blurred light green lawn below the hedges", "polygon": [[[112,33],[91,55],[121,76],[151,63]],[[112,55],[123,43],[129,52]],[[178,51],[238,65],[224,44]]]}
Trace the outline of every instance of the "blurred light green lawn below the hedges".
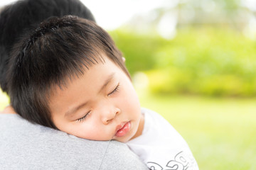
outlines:
{"label": "blurred light green lawn below the hedges", "polygon": [[200,169],[256,169],[256,99],[144,96],[188,142]]}

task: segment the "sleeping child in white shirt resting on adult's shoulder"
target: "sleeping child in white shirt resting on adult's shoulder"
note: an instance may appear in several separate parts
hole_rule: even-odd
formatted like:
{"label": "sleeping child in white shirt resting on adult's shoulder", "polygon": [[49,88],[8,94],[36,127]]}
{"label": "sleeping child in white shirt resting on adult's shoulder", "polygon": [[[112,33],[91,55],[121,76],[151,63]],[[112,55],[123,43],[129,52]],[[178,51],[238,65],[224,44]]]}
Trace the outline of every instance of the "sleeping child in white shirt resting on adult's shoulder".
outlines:
{"label": "sleeping child in white shirt resting on adult's shoulder", "polygon": [[141,108],[122,53],[105,30],[51,18],[14,47],[11,106],[23,118],[88,140],[117,140],[150,169],[198,169],[178,132]]}

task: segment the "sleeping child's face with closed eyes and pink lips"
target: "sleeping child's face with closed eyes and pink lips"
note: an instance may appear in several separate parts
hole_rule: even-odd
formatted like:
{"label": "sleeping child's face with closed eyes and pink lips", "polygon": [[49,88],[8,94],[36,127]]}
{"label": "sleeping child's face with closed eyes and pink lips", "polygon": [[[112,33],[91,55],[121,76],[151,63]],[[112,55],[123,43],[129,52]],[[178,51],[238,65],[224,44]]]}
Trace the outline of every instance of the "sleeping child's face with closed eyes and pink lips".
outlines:
{"label": "sleeping child's face with closed eyes and pink lips", "polygon": [[105,57],[67,87],[55,88],[50,112],[55,126],[88,140],[127,142],[137,132],[142,114],[127,74]]}

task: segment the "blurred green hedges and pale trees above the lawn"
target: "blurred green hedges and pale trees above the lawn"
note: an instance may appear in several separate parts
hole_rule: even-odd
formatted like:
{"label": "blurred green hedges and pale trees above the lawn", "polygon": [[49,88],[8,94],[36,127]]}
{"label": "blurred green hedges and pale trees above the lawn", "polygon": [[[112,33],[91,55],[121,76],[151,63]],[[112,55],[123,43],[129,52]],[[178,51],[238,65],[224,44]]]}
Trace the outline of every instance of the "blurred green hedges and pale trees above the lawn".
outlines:
{"label": "blurred green hedges and pale trees above the lawn", "polygon": [[112,35],[129,71],[144,72],[154,93],[256,96],[250,1],[168,1]]}

